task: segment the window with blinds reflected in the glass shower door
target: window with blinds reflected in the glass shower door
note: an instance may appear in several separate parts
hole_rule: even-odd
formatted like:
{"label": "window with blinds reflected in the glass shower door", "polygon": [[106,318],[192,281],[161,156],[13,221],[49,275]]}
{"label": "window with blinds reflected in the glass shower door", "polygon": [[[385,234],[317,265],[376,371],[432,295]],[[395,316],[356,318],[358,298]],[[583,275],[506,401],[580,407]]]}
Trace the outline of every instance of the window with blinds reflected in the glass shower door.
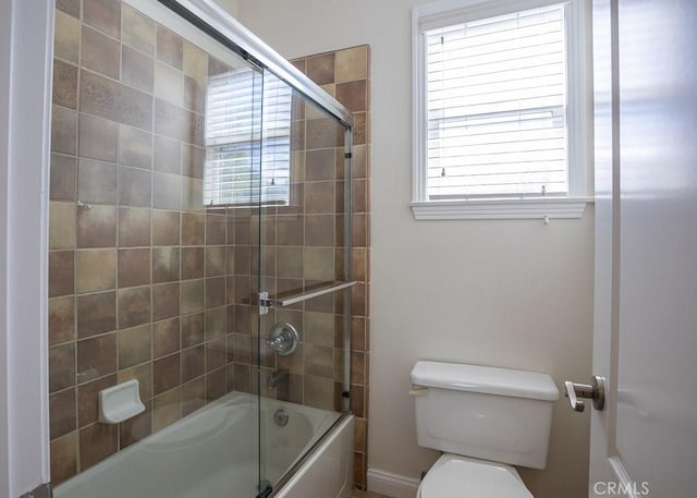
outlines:
{"label": "window with blinds reflected in the glass shower door", "polygon": [[206,109],[206,205],[288,205],[292,88],[252,69],[211,76]]}

